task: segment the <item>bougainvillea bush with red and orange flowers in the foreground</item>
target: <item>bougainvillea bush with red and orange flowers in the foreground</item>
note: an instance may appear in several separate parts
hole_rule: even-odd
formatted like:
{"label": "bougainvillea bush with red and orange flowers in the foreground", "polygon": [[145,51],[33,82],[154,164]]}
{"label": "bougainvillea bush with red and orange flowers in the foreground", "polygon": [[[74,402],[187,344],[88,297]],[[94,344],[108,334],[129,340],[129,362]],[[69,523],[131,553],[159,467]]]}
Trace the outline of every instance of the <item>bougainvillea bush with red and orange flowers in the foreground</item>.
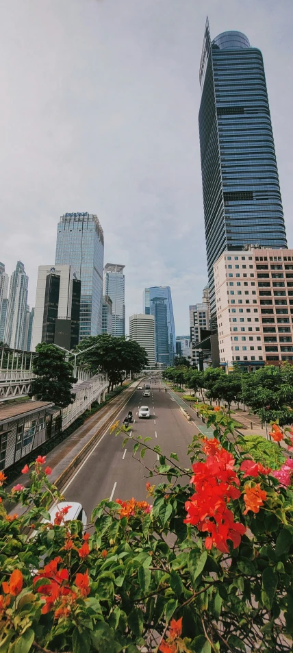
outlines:
{"label": "bougainvillea bush with red and orange flowers in the foreground", "polygon": [[[132,434],[140,463],[159,456],[146,500],[104,500],[84,530],[64,505],[48,521],[61,497],[43,456],[23,468],[29,488],[8,495],[1,473],[0,653],[292,651],[292,459],[271,471],[228,415],[202,410],[214,438],[194,436],[190,469]],[[19,517],[3,508],[13,498]]]}

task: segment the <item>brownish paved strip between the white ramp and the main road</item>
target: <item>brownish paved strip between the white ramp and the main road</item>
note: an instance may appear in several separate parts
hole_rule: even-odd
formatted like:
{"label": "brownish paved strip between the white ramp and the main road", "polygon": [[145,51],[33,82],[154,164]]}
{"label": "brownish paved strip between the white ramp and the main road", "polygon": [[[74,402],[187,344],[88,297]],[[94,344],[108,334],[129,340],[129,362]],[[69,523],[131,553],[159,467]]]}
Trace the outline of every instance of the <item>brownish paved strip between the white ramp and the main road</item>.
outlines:
{"label": "brownish paved strip between the white ramp and the main road", "polygon": [[[127,402],[127,399],[131,397],[131,394],[136,389],[140,381],[135,381],[131,383],[127,388],[114,397],[111,402],[103,406],[101,410],[98,410],[94,415],[86,419],[84,424],[82,424],[77,430],[75,430],[68,438],[61,442],[55,449],[52,449],[49,454],[46,456],[46,465],[49,465],[52,469],[50,476],[51,483],[54,483],[59,476],[64,472],[72,460],[81,452],[90,439],[97,433],[98,430],[103,428],[103,424],[107,422],[112,414],[116,415],[118,408]],[[27,475],[21,474],[18,478],[7,486],[9,491],[12,486],[22,483],[27,486],[29,484],[29,478]]]}

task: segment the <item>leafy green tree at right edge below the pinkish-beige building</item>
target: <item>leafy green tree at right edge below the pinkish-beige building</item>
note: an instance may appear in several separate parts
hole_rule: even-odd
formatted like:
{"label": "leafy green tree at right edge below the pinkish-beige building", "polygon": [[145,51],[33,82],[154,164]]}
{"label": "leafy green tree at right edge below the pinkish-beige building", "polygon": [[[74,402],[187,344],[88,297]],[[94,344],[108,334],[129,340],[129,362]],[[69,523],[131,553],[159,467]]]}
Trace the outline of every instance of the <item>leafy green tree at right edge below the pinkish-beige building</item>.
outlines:
{"label": "leafy green tree at right edge below the pinkish-beige building", "polygon": [[242,375],[242,398],[263,421],[293,422],[293,370],[291,365],[268,365]]}

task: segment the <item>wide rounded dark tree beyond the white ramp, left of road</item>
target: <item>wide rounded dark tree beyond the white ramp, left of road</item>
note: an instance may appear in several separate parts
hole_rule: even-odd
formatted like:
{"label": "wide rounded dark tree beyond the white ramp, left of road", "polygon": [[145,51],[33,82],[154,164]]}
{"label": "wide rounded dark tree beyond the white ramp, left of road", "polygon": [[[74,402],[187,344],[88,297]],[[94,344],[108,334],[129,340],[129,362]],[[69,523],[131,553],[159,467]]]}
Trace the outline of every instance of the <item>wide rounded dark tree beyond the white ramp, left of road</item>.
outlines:
{"label": "wide rounded dark tree beyond the white ramp, left of road", "polygon": [[92,345],[97,346],[81,355],[79,360],[93,371],[107,372],[109,390],[123,381],[125,372],[137,374],[148,365],[144,347],[124,336],[120,338],[114,338],[109,334],[90,336],[79,343],[78,349],[86,349]]}

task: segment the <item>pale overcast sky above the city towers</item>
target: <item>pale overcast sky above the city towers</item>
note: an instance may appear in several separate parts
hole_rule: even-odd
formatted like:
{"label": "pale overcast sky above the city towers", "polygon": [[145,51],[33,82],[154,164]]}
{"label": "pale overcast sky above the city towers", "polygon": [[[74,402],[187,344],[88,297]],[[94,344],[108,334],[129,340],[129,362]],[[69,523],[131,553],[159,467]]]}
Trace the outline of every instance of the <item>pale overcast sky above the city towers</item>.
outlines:
{"label": "pale overcast sky above the city towers", "polygon": [[199,62],[237,29],[264,55],[288,245],[292,0],[0,0],[0,260],[55,262],[60,215],[97,214],[105,263],[125,264],[129,315],[169,285],[177,334],[207,283]]}

